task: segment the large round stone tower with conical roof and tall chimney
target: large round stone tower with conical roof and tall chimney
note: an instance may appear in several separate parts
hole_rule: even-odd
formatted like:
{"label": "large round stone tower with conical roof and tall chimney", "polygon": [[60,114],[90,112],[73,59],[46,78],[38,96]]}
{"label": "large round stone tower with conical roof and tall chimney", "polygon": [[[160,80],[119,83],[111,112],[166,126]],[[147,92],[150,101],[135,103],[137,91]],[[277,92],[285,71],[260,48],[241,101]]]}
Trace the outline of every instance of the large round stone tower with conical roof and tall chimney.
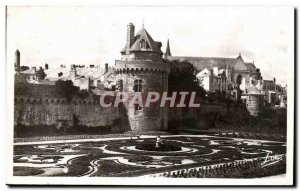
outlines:
{"label": "large round stone tower with conical roof and tall chimney", "polygon": [[[168,91],[169,65],[162,59],[161,42],[154,41],[143,27],[134,34],[134,25],[127,26],[127,41],[121,51],[121,60],[116,60],[119,89],[129,95],[141,92]],[[128,121],[133,131],[167,129],[168,109],[159,105],[149,107],[134,104],[127,107]]]}

